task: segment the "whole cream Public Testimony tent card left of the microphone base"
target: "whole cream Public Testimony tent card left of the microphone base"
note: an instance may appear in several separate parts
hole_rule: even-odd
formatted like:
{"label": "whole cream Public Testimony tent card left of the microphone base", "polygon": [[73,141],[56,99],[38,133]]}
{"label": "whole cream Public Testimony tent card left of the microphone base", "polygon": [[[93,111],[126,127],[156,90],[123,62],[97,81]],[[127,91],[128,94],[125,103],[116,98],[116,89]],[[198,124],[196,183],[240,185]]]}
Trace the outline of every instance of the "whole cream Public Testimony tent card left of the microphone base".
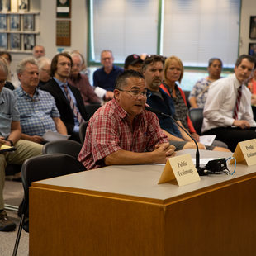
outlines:
{"label": "whole cream Public Testimony tent card left of the microphone base", "polygon": [[159,178],[159,184],[170,182],[173,179],[177,180],[178,186],[200,181],[190,154],[183,154],[168,159],[164,171]]}

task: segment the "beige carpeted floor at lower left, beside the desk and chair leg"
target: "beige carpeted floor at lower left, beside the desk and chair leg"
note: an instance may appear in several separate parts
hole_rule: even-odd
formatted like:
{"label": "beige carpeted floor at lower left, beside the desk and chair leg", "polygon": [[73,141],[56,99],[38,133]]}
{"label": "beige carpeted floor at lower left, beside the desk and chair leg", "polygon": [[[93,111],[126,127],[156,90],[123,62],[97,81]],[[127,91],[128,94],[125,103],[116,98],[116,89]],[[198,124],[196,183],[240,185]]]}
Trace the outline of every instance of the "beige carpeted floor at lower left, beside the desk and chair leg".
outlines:
{"label": "beige carpeted floor at lower left, beside the desk and chair leg", "polygon": [[[3,198],[5,204],[19,206],[23,197],[23,187],[21,182],[6,181]],[[17,230],[20,218],[17,216],[17,211],[7,210],[7,215],[17,224],[17,229],[14,232],[0,232],[0,255],[12,255],[13,247],[15,244]],[[29,234],[24,230],[21,232],[21,240],[18,248],[18,256],[28,255]]]}

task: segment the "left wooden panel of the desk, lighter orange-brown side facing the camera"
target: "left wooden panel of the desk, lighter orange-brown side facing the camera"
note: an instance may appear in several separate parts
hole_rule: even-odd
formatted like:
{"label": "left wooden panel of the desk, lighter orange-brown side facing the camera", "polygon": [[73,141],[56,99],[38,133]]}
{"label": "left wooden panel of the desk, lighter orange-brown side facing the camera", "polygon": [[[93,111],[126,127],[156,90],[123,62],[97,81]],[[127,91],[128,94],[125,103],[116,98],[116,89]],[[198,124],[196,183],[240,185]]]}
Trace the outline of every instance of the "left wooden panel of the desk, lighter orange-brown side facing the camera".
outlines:
{"label": "left wooden panel of the desk, lighter orange-brown side facing the camera", "polygon": [[31,187],[30,254],[164,255],[164,209]]}

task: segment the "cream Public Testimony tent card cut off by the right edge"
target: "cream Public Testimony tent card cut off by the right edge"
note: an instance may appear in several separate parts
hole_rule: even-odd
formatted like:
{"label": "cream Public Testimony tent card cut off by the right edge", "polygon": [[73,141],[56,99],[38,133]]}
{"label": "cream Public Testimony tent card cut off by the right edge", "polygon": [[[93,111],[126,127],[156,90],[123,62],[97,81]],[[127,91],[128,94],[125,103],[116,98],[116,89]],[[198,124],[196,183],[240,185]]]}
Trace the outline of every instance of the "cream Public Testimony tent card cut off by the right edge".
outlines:
{"label": "cream Public Testimony tent card cut off by the right edge", "polygon": [[[256,164],[256,139],[239,142],[233,157],[236,159],[236,163],[247,164],[248,166]],[[231,159],[230,164],[235,164],[235,160]]]}

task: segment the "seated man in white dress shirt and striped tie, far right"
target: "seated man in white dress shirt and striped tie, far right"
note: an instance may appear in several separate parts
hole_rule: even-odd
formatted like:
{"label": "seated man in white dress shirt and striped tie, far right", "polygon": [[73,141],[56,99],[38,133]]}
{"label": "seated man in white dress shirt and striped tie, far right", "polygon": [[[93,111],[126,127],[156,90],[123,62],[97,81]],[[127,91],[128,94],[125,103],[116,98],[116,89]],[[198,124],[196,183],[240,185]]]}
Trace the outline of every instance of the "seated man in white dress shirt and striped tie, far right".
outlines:
{"label": "seated man in white dress shirt and striped tie, far right", "polygon": [[[235,73],[211,84],[204,107],[202,133],[215,134],[231,151],[239,141],[256,138],[251,92],[244,86],[254,69],[254,58],[241,55]],[[237,97],[240,93],[240,100]]]}

